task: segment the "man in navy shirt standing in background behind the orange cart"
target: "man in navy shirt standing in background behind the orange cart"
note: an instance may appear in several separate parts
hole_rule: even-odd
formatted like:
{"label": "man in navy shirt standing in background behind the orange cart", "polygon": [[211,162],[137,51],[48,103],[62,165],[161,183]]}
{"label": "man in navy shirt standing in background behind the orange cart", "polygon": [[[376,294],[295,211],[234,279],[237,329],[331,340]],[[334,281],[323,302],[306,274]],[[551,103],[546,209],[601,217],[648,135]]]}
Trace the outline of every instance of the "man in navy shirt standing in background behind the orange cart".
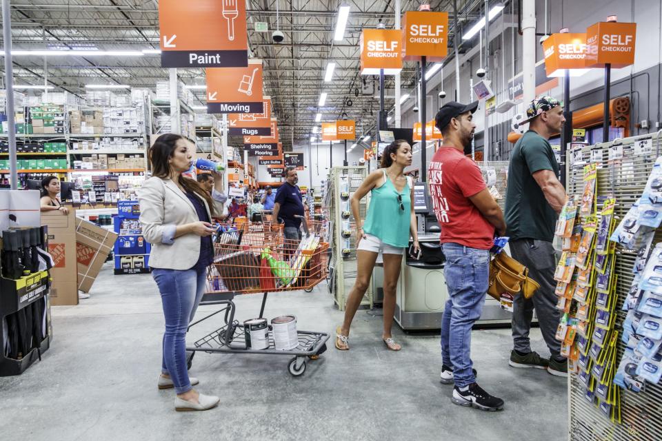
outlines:
{"label": "man in navy shirt standing in background behind the orange cart", "polygon": [[285,223],[285,238],[290,240],[301,240],[301,218],[303,217],[303,201],[299,190],[299,176],[297,169],[288,167],[285,169],[285,182],[276,192],[274,203],[274,222],[280,219]]}

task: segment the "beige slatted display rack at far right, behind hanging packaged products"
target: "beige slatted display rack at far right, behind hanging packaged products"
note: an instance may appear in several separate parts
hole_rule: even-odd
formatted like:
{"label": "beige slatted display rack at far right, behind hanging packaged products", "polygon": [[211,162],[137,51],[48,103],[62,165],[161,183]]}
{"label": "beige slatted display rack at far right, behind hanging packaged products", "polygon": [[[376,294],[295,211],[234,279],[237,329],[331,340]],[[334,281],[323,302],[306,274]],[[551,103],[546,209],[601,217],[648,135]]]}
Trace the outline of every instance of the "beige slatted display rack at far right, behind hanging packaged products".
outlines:
{"label": "beige slatted display rack at far right, behind hanging packaged products", "polygon": [[[650,153],[634,153],[636,141],[650,139]],[[610,150],[612,151],[610,153]],[[622,158],[618,158],[621,154]],[[569,195],[581,196],[583,192],[583,166],[599,162],[597,171],[597,196],[616,198],[614,214],[620,220],[630,207],[639,199],[645,187],[653,164],[662,154],[662,136],[650,134],[628,139],[616,140],[611,143],[601,143],[583,147],[573,152],[568,151],[567,170]],[[610,159],[611,158],[611,159]],[[653,244],[662,241],[662,229],[658,229],[653,238]],[[623,330],[623,320],[627,311],[623,311],[623,302],[630,291],[633,278],[636,251],[616,247],[616,263],[614,271],[618,276],[616,283],[616,322],[614,328],[619,333]],[[620,337],[616,346],[616,360],[620,362],[625,344]],[[568,430],[572,441],[593,440],[643,440],[659,439],[657,433],[662,433],[662,387],[660,384],[646,382],[645,389],[634,393],[621,389],[621,424],[615,424],[606,418],[594,404],[584,396],[585,386],[576,375],[568,379],[569,422]]]}

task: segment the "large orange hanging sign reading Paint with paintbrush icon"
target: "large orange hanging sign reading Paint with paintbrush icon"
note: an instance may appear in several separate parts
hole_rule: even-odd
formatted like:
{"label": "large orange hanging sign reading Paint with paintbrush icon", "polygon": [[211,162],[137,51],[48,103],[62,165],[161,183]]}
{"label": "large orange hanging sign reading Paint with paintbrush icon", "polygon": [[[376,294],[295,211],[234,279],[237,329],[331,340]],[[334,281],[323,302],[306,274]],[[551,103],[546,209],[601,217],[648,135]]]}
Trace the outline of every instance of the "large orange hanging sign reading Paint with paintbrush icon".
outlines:
{"label": "large orange hanging sign reading Paint with paintbrush icon", "polygon": [[246,4],[240,0],[161,0],[162,68],[248,65]]}

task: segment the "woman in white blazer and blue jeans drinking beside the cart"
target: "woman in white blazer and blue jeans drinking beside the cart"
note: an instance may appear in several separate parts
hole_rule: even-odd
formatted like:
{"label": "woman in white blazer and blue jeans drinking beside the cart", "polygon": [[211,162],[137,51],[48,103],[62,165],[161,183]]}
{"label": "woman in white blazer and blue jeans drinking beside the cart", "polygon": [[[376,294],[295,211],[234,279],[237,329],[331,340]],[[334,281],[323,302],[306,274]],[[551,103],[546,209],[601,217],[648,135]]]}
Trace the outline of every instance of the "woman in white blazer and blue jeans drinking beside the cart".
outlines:
{"label": "woman in white blazer and blue jeans drinking beside the cart", "polygon": [[217,179],[212,194],[197,181],[181,176],[190,169],[192,145],[180,135],[163,134],[150,148],[152,178],[138,192],[143,236],[152,244],[150,267],[161,291],[165,334],[159,389],[174,387],[177,411],[201,411],[219,398],[192,389],[186,367],[186,331],[214,260],[212,216],[223,214],[227,196]]}

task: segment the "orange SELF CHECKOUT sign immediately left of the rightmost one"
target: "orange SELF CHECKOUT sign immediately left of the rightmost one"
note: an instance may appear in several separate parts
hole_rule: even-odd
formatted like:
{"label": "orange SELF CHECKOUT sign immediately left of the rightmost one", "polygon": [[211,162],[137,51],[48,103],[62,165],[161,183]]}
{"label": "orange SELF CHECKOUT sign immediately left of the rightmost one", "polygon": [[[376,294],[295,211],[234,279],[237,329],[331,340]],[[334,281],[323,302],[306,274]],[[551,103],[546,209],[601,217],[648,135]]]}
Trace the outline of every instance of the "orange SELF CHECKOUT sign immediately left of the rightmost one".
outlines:
{"label": "orange SELF CHECKOUT sign immediately left of the rightmost one", "polygon": [[547,76],[563,76],[565,70],[573,70],[571,75],[586,72],[586,34],[552,34],[543,41],[545,72]]}

